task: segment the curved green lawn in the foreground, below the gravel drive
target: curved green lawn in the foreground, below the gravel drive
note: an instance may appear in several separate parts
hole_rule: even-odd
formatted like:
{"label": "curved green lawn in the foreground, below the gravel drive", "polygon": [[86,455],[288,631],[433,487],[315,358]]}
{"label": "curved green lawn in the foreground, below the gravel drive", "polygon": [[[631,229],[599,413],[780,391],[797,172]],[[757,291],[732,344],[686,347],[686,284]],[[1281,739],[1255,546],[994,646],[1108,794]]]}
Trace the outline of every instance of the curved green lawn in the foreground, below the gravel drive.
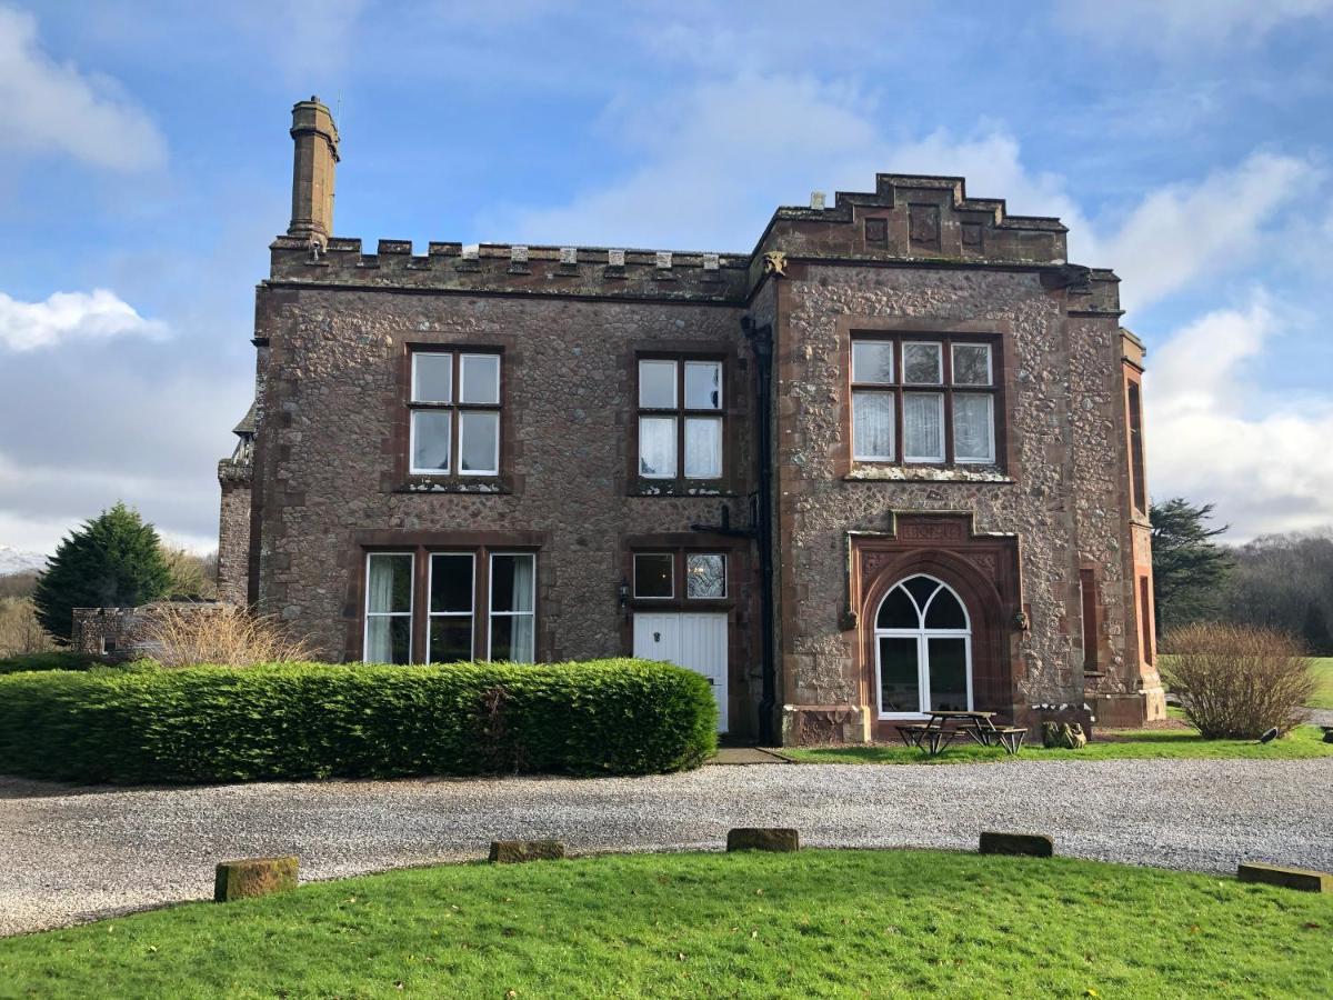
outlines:
{"label": "curved green lawn in the foreground, below the gravel drive", "polygon": [[448,865],[0,941],[0,996],[1329,996],[1333,897],[938,851]]}

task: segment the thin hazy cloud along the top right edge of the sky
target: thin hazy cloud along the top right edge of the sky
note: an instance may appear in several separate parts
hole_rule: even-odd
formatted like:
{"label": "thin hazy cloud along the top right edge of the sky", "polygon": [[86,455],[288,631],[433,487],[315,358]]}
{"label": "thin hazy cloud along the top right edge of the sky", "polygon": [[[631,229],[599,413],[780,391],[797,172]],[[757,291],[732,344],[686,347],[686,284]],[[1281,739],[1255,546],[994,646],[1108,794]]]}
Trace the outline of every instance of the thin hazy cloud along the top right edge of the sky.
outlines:
{"label": "thin hazy cloud along the top right edge of the sky", "polygon": [[1333,0],[1078,0],[1058,23],[1108,45],[1158,52],[1254,44],[1270,32],[1333,11]]}

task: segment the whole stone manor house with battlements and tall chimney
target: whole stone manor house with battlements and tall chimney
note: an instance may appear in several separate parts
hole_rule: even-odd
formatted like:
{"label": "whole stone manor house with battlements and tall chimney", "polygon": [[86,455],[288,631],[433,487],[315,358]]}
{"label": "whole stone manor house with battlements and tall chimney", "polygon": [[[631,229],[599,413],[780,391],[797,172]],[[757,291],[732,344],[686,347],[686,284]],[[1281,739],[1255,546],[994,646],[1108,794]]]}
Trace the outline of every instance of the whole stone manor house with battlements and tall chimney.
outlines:
{"label": "whole stone manor house with battlements and tall chimney", "polygon": [[291,135],[224,593],[329,660],[672,660],[742,740],[1162,716],[1144,349],[1058,220],[881,173],[749,252],[367,252]]}

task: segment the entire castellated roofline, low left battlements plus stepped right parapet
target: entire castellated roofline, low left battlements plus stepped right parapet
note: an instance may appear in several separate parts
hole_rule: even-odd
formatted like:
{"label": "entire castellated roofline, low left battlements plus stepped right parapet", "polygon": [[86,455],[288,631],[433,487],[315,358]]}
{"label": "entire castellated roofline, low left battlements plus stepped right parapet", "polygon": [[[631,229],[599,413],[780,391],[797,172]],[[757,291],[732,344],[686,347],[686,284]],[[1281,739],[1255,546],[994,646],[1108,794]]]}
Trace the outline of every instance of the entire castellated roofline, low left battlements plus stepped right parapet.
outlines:
{"label": "entire castellated roofline, low left battlements plus stepped right parapet", "polygon": [[271,244],[271,281],[734,303],[762,283],[774,252],[809,264],[1060,271],[1052,287],[1061,288],[1118,281],[1069,264],[1058,219],[968,197],[962,177],[877,173],[873,192],[837,192],[822,204],[817,196],[812,207],[777,208],[749,253],[455,241],[416,253],[408,240],[379,240],[367,253],[360,239],[289,233]]}

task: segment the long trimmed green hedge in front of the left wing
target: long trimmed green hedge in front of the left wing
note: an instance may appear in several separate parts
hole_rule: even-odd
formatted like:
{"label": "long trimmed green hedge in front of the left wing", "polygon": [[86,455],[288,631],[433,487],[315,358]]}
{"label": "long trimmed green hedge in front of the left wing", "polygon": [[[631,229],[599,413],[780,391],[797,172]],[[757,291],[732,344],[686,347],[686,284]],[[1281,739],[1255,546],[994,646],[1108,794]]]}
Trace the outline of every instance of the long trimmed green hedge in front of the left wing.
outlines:
{"label": "long trimmed green hedge in front of the left wing", "polygon": [[716,727],[702,676],[643,660],[0,677],[0,773],[64,781],[644,775],[697,767]]}

